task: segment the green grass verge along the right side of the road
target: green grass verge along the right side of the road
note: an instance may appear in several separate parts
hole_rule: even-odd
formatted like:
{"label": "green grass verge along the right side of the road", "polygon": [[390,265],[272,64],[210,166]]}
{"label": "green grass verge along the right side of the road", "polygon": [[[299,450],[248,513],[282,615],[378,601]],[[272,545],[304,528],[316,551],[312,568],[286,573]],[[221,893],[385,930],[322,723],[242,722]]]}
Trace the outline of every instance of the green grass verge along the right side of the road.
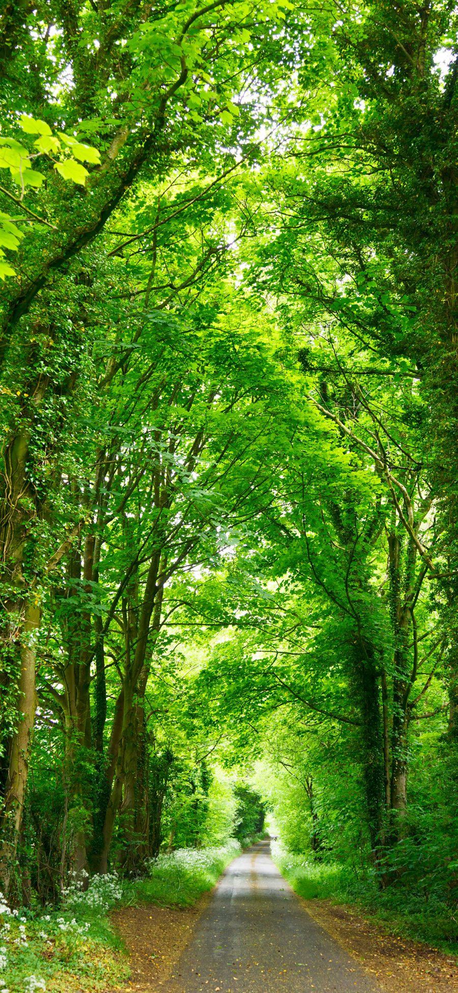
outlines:
{"label": "green grass verge along the right side of the road", "polygon": [[407,891],[400,879],[381,890],[375,874],[357,876],[348,865],[314,862],[288,852],[279,842],[272,843],[272,855],[287,882],[304,900],[350,905],[369,914],[394,936],[458,954],[458,906],[456,901],[445,901],[442,889],[418,886]]}

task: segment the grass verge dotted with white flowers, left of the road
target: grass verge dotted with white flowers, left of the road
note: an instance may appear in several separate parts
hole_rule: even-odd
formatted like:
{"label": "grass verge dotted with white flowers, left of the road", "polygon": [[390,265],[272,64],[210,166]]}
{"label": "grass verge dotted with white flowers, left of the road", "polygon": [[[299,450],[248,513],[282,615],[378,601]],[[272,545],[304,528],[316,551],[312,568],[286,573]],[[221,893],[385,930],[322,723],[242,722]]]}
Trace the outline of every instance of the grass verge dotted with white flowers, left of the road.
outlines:
{"label": "grass verge dotted with white flowers, left of the road", "polygon": [[151,861],[136,881],[95,876],[71,885],[56,909],[12,911],[0,897],[0,993],[98,993],[129,980],[126,949],[110,921],[115,907],[152,903],[190,907],[240,853],[233,838],[218,848],[180,849]]}

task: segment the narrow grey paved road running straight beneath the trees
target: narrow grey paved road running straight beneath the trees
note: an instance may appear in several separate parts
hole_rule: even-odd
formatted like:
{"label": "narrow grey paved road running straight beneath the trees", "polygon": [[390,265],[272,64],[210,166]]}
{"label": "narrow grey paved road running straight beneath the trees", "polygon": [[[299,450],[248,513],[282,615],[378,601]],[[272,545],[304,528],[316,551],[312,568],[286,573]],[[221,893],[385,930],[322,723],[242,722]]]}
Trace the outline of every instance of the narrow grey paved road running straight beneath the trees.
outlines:
{"label": "narrow grey paved road running straight beneath the trees", "polygon": [[382,987],[309,917],[274,865],[269,842],[261,842],[226,869],[168,989],[381,993]]}

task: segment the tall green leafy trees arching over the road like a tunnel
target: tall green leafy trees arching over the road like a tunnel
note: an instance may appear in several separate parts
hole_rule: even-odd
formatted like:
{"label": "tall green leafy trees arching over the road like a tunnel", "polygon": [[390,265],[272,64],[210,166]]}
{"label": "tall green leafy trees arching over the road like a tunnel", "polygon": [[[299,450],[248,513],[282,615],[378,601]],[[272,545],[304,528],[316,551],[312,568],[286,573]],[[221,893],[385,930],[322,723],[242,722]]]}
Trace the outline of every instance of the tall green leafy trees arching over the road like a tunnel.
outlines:
{"label": "tall green leafy trees arching over the road like a tunnel", "polygon": [[448,0],[4,6],[13,903],[270,810],[456,908],[457,29]]}

